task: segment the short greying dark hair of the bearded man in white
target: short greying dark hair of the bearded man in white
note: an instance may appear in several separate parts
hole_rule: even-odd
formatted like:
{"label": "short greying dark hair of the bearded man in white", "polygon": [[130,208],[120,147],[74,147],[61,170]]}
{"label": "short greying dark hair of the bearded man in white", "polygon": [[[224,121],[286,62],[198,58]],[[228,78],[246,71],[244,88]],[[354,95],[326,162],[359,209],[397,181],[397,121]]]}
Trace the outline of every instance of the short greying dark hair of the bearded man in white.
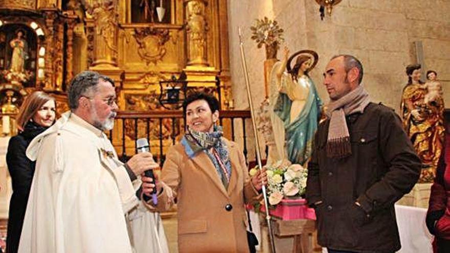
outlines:
{"label": "short greying dark hair of the bearded man in white", "polygon": [[72,111],[78,108],[78,100],[81,97],[93,96],[93,93],[97,91],[97,85],[100,80],[109,82],[114,86],[113,79],[94,71],[83,71],[72,79],[68,95],[69,107]]}

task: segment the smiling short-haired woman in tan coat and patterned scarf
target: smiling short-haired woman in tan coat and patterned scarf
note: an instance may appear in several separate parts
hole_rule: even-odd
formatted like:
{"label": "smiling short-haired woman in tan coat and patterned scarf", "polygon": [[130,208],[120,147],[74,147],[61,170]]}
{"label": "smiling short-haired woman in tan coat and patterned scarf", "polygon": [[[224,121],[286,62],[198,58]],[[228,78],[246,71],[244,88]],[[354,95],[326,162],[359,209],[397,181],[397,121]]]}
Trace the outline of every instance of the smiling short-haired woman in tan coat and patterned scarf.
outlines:
{"label": "smiling short-haired woman in tan coat and patterned scarf", "polygon": [[[249,252],[244,203],[257,201],[265,171],[250,179],[238,145],[222,137],[219,103],[204,93],[188,97],[183,111],[188,125],[182,141],[166,156],[158,209],[176,197],[179,252]],[[166,185],[161,192],[161,185]]]}

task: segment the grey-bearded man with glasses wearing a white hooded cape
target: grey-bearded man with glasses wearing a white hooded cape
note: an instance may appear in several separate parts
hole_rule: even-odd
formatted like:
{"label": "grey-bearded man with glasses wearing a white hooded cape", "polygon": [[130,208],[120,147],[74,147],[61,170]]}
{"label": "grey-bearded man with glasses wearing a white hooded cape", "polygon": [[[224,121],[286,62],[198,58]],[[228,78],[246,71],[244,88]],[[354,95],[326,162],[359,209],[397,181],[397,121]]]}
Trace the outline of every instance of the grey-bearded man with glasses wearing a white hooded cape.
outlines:
{"label": "grey-bearded man with glasses wearing a white hooded cape", "polygon": [[118,109],[113,80],[78,74],[69,105],[27,149],[37,161],[18,252],[131,253],[125,214],[139,199],[130,177],[158,165],[150,153],[122,164],[103,133]]}

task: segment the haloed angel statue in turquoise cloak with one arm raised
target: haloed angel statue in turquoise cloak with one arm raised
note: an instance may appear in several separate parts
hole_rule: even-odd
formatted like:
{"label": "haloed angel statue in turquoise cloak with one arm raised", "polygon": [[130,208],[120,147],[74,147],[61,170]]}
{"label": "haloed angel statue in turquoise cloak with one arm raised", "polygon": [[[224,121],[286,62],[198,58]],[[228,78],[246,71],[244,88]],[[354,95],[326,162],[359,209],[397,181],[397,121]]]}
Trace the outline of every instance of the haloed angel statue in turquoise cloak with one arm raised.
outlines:
{"label": "haloed angel statue in turquoise cloak with one arm raised", "polygon": [[[275,144],[278,159],[305,166],[311,156],[312,141],[321,115],[322,101],[308,76],[319,57],[311,50],[288,56],[289,50],[285,47],[283,60],[275,63],[271,71],[272,85],[276,85],[279,91],[274,105],[274,113],[278,117],[278,121],[273,121]],[[295,64],[291,66],[294,59]]]}

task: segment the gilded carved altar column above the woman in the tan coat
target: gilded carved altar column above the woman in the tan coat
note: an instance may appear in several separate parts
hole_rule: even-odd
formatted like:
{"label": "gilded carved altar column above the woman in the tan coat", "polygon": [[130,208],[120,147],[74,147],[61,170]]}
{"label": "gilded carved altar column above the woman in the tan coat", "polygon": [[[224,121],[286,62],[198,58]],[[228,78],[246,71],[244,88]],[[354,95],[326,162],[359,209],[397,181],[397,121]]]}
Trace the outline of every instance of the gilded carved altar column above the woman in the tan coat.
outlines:
{"label": "gilded carved altar column above the woman in the tan coat", "polygon": [[206,4],[204,0],[185,1],[188,66],[208,66]]}

